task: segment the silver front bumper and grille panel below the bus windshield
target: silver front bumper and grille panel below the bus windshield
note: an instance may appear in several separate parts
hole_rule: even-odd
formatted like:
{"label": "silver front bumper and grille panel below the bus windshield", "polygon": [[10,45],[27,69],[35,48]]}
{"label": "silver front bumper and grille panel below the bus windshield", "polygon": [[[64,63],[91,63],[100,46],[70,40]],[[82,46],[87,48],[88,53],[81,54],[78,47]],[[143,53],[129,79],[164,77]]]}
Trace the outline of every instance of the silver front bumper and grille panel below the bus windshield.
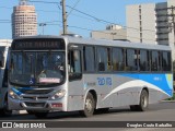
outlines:
{"label": "silver front bumper and grille panel below the bus windshield", "polygon": [[[48,94],[43,94],[44,90],[48,88],[33,88],[33,87],[14,87],[11,86],[11,88],[15,88],[16,93],[20,93],[20,99],[13,99],[9,97],[9,108],[13,110],[21,110],[21,109],[26,109],[26,110],[58,110],[58,111],[67,111],[67,96],[58,100],[51,100],[50,97],[54,96],[55,93],[57,93],[60,90],[67,91],[67,83],[65,83],[61,86],[58,87],[49,87],[50,93]],[[24,91],[25,88],[25,91]],[[23,92],[40,92],[40,94],[27,94]],[[58,104],[59,107],[54,107],[52,104]]]}

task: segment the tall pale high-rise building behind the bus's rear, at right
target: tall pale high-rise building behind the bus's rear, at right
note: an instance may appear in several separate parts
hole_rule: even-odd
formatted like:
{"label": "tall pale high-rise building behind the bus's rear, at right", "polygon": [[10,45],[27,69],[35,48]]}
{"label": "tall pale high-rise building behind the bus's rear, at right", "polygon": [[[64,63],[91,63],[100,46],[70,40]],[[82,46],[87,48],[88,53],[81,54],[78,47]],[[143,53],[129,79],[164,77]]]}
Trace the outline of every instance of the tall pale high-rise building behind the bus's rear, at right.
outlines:
{"label": "tall pale high-rise building behind the bus's rear, at right", "polygon": [[128,5],[126,11],[127,39],[136,43],[171,46],[174,53],[175,35],[172,28],[172,5],[175,5],[175,0]]}

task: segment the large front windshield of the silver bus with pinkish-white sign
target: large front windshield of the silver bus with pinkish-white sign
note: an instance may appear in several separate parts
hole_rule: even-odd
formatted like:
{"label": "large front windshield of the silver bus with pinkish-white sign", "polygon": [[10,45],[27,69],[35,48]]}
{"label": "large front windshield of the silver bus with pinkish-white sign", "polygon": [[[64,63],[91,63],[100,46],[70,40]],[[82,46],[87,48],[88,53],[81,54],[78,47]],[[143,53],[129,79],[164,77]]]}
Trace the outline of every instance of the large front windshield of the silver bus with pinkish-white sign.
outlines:
{"label": "large front windshield of the silver bus with pinkish-white sign", "polygon": [[10,82],[20,85],[60,84],[65,80],[63,51],[13,51]]}

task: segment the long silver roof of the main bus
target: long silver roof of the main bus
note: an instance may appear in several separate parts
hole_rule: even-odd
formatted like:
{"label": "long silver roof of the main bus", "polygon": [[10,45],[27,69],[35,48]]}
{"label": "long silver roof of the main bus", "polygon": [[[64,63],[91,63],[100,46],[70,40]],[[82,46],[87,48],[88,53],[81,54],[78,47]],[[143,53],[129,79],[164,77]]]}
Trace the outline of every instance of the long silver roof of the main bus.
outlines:
{"label": "long silver roof of the main bus", "polygon": [[[170,46],[164,45],[153,45],[153,44],[142,44],[142,43],[131,43],[122,40],[107,40],[107,39],[94,39],[94,38],[80,38],[72,36],[51,36],[51,35],[39,35],[39,36],[30,36],[15,39],[28,39],[28,38],[63,38],[69,44],[83,44],[83,45],[96,45],[96,46],[112,46],[112,47],[124,47],[124,48],[139,48],[139,49],[153,49],[153,50],[171,50]],[[14,40],[15,40],[14,39]]]}

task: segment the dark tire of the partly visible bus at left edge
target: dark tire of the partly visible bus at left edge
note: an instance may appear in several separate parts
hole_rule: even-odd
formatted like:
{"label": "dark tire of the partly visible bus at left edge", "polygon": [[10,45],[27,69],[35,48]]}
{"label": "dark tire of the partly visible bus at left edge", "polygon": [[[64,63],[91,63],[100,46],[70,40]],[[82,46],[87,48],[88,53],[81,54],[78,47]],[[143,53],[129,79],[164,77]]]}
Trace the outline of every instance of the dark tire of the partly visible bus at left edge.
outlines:
{"label": "dark tire of the partly visible bus at left edge", "polygon": [[0,110],[0,114],[4,117],[10,117],[12,115],[12,110],[9,110],[8,107],[8,97],[5,97],[3,102],[3,109]]}

